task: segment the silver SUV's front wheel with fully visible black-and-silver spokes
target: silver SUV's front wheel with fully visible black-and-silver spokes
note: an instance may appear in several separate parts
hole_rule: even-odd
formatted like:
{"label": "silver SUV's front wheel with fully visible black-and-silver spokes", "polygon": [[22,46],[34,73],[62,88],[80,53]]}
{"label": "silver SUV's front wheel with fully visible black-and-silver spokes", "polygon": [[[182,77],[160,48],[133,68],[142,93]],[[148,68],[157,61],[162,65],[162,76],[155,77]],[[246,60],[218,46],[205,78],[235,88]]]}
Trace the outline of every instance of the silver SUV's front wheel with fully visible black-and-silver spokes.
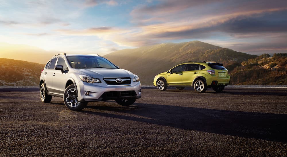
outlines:
{"label": "silver SUV's front wheel with fully visible black-and-silver spokes", "polygon": [[77,89],[73,84],[67,86],[64,92],[64,103],[67,108],[73,111],[82,110],[88,104],[88,102],[79,102]]}

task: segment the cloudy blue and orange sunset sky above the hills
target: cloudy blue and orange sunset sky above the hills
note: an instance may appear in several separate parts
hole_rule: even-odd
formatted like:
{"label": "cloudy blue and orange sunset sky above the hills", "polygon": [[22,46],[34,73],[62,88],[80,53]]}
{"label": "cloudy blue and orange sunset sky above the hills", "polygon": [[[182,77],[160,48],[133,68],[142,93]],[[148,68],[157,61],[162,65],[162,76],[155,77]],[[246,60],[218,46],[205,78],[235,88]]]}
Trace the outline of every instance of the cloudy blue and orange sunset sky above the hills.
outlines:
{"label": "cloudy blue and orange sunset sky above the hills", "polygon": [[250,54],[287,53],[287,1],[0,0],[0,32],[0,48],[104,55],[198,40]]}

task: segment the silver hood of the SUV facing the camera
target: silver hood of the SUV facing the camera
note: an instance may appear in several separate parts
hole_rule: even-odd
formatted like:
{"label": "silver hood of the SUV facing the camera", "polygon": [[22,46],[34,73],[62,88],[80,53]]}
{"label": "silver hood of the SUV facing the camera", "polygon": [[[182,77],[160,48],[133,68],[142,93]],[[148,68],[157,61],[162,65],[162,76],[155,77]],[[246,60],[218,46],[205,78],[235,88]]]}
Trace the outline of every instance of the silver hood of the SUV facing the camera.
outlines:
{"label": "silver hood of the SUV facing the camera", "polygon": [[124,69],[74,69],[78,73],[88,75],[90,77],[103,79],[104,77],[131,77],[134,75],[130,71]]}

